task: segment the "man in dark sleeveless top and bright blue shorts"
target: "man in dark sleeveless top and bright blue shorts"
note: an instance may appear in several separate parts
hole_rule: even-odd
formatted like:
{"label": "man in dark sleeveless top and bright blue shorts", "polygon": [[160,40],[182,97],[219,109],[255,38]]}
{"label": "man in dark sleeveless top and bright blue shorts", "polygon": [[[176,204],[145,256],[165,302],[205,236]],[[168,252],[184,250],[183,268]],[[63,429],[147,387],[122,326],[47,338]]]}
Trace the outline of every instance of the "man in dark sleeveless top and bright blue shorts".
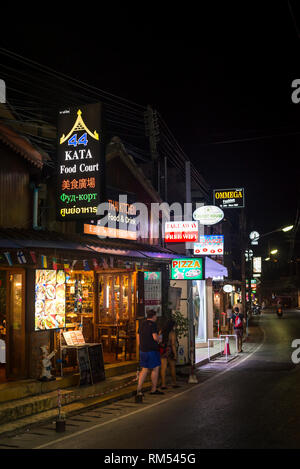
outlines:
{"label": "man in dark sleeveless top and bright blue shorts", "polygon": [[142,324],[140,324],[138,330],[140,345],[140,366],[142,369],[139,374],[137,395],[143,394],[142,387],[149,370],[152,370],[152,388],[150,394],[164,394],[162,391],[157,389],[161,361],[156,319],[156,311],[149,310],[147,312],[147,319],[143,321]]}

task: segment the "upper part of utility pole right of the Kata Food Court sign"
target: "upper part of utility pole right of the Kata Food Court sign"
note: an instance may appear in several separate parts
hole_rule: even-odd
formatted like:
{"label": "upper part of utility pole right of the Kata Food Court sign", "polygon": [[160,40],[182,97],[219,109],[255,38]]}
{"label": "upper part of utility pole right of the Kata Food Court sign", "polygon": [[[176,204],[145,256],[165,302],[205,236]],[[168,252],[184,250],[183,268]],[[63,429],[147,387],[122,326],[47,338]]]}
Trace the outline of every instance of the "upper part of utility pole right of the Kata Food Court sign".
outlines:
{"label": "upper part of utility pole right of the Kata Food Court sign", "polygon": [[160,188],[160,159],[158,153],[159,142],[159,124],[157,111],[153,110],[148,104],[147,111],[144,114],[146,136],[149,137],[149,146],[152,160],[152,183],[157,192],[161,193]]}

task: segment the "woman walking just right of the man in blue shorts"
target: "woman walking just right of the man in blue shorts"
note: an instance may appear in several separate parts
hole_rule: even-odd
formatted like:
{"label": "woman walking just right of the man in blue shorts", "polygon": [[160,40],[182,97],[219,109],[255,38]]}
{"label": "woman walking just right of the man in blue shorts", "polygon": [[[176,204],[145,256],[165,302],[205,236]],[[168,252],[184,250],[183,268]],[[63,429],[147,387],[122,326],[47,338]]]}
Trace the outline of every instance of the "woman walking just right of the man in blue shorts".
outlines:
{"label": "woman walking just right of the man in blue shorts", "polygon": [[176,332],[175,332],[175,321],[170,319],[167,321],[165,327],[162,329],[162,342],[160,344],[160,358],[161,358],[161,389],[167,389],[166,386],[166,371],[168,364],[170,366],[171,378],[173,388],[178,388],[176,384],[176,360],[177,360],[177,349],[176,349]]}

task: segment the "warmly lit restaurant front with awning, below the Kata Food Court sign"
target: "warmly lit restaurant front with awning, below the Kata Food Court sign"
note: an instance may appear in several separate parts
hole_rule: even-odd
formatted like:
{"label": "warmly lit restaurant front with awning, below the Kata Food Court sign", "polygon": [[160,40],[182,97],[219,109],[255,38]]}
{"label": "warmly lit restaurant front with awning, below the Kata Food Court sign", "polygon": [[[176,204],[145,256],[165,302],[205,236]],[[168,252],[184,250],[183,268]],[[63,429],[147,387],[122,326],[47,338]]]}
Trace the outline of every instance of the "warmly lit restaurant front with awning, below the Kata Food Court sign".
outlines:
{"label": "warmly lit restaurant front with awning, below the Kata Food Court sign", "polygon": [[105,365],[138,359],[138,322],[149,307],[163,312],[171,254],[149,246],[137,251],[84,243],[86,238],[82,244],[23,240],[22,251],[6,248],[12,266],[5,265],[3,249],[1,381],[39,378],[42,346],[56,351],[55,376],[78,373],[76,351],[63,348],[65,332],[81,331],[85,343],[102,344]]}

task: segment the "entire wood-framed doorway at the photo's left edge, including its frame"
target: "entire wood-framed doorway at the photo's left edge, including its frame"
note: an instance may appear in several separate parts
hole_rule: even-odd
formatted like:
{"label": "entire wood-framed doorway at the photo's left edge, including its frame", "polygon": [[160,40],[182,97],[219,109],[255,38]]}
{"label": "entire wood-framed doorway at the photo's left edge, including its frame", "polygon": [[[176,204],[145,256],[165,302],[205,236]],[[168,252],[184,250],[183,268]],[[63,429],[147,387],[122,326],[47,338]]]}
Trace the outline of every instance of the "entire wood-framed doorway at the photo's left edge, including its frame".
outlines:
{"label": "entire wood-framed doorway at the photo's left edge, including its frame", "polygon": [[0,382],[25,377],[25,272],[0,270]]}

